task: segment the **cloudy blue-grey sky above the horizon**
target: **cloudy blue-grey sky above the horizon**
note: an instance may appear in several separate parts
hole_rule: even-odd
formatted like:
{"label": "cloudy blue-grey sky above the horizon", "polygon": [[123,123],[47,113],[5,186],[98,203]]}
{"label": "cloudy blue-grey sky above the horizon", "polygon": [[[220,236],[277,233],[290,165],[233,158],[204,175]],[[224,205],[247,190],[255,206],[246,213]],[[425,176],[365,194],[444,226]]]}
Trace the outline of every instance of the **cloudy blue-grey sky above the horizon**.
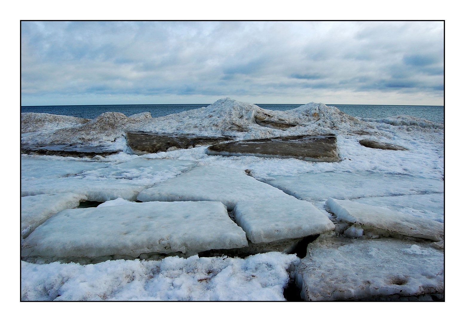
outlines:
{"label": "cloudy blue-grey sky above the horizon", "polygon": [[22,22],[22,105],[444,104],[443,22]]}

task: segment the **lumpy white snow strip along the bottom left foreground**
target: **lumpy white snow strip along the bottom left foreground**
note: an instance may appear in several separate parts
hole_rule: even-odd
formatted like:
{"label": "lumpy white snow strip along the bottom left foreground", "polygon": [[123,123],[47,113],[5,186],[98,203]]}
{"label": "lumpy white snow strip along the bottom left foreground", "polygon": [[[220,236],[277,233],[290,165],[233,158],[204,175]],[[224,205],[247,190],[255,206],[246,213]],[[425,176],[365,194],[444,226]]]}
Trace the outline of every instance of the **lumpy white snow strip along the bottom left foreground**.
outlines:
{"label": "lumpy white snow strip along the bottom left foreground", "polygon": [[21,262],[22,301],[285,301],[296,255],[167,257],[99,264]]}

